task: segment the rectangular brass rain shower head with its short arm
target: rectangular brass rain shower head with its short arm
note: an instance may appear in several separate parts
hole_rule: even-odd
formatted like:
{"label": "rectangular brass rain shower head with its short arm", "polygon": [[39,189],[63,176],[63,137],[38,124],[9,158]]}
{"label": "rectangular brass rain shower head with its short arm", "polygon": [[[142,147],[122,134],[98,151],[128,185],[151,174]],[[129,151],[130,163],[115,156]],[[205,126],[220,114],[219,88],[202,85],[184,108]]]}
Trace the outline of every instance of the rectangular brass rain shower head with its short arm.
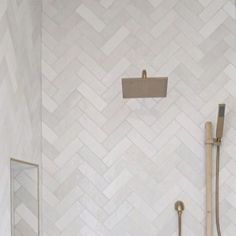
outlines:
{"label": "rectangular brass rain shower head with its short arm", "polygon": [[168,77],[148,77],[142,71],[141,78],[123,78],[123,98],[166,97]]}

